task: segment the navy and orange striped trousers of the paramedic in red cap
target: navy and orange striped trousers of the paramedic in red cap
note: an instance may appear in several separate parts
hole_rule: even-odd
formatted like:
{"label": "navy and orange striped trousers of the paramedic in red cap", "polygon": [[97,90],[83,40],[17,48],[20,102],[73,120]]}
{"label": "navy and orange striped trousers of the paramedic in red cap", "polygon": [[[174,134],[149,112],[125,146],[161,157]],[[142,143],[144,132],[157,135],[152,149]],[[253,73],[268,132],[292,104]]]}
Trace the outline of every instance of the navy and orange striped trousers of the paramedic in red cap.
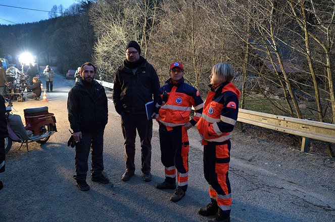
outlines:
{"label": "navy and orange striped trousers of the paramedic in red cap", "polygon": [[170,130],[163,124],[160,124],[159,127],[161,161],[165,167],[165,181],[175,183],[177,173],[178,187],[186,191],[189,151],[187,131],[184,126],[168,128]]}

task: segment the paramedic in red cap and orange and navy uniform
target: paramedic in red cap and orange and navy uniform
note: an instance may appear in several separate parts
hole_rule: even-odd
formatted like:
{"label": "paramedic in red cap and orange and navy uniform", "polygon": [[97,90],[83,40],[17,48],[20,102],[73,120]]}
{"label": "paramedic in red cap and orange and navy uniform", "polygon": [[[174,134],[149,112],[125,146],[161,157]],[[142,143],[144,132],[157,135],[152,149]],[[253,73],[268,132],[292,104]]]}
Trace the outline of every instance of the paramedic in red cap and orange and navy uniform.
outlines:
{"label": "paramedic in red cap and orange and navy uniform", "polygon": [[[184,68],[179,62],[170,65],[170,79],[159,89],[157,107],[159,115],[159,140],[161,160],[165,167],[165,180],[156,184],[157,189],[175,189],[170,197],[177,202],[185,196],[188,181],[188,136],[187,129],[199,121],[204,102],[199,91],[184,83]],[[189,114],[195,108],[195,116],[189,119]],[[178,187],[176,188],[176,174]]]}

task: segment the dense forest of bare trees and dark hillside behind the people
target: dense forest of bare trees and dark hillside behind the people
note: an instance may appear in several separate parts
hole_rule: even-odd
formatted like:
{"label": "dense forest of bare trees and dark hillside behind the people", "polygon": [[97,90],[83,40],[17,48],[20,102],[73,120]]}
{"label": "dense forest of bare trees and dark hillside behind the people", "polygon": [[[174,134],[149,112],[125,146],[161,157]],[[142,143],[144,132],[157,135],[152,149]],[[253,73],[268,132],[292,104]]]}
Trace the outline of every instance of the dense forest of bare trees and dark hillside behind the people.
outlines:
{"label": "dense forest of bare trees and dark hillside behind the people", "polygon": [[46,21],[0,26],[0,53],[30,50],[59,70],[91,60],[112,81],[136,40],[162,83],[178,60],[205,97],[213,64],[229,62],[242,108],[335,123],[333,0],[97,0],[61,15],[59,8]]}

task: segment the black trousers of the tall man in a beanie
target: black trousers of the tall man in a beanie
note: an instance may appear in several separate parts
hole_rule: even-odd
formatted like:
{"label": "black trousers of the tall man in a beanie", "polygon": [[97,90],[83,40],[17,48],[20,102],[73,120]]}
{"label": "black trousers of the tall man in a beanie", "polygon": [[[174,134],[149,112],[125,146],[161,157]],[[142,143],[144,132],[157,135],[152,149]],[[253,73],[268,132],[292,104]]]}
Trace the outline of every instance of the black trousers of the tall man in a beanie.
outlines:
{"label": "black trousers of the tall man in a beanie", "polygon": [[121,127],[124,137],[124,150],[126,158],[126,170],[135,171],[135,139],[136,129],[141,143],[141,171],[151,171],[151,138],[153,137],[153,120],[147,119],[147,115],[130,114],[123,112],[121,115]]}

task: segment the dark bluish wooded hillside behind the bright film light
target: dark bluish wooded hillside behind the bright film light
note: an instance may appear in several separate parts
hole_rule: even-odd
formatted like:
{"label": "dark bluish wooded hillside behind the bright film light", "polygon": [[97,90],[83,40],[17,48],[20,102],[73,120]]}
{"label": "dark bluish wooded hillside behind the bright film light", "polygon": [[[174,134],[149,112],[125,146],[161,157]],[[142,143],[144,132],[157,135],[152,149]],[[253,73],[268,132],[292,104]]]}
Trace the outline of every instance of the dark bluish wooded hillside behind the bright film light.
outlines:
{"label": "dark bluish wooded hillside behind the bright film light", "polygon": [[61,73],[76,69],[91,60],[93,53],[95,37],[88,18],[90,5],[91,1],[73,4],[68,9],[54,6],[48,20],[1,25],[1,55],[10,54],[16,63],[16,56],[30,52],[37,56],[39,65],[58,66]]}

